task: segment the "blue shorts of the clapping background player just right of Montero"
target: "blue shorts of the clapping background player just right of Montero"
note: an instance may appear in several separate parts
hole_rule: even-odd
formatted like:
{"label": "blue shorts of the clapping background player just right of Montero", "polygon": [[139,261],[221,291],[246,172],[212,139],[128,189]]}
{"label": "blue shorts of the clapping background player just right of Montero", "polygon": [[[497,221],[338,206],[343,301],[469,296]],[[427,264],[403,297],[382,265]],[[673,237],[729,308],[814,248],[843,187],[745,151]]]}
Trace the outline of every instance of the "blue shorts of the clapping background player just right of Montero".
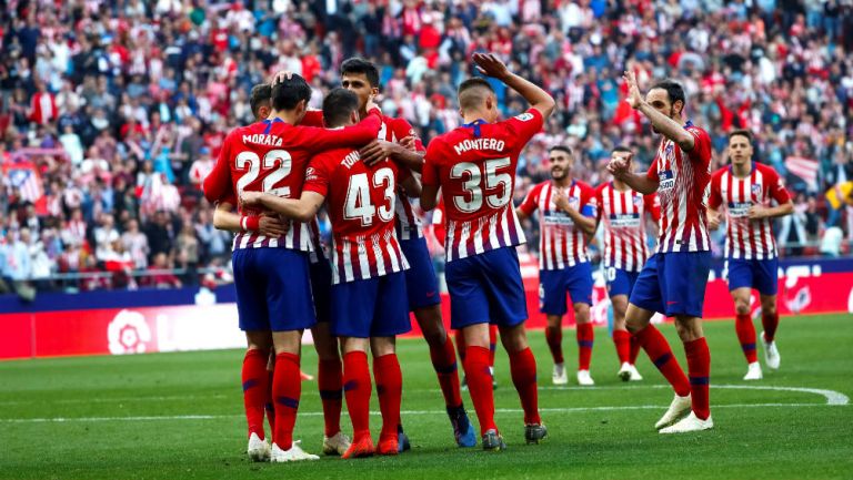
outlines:
{"label": "blue shorts of the clapping background player just right of Montero", "polygon": [[589,262],[559,270],[539,270],[539,312],[545,315],[565,315],[565,293],[572,304],[592,305],[592,267]]}

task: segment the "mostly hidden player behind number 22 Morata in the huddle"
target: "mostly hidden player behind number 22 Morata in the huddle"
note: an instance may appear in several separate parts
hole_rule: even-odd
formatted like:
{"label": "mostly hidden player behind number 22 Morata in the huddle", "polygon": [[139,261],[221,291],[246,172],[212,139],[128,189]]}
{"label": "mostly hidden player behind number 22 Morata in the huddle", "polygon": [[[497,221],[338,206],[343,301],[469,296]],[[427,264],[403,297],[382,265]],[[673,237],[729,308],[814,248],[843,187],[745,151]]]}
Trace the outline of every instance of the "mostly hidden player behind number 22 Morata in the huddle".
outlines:
{"label": "mostly hidden player behind number 22 Morata in the huddle", "polygon": [[[271,94],[272,85],[269,83],[260,83],[252,88],[249,103],[257,122],[261,122],[270,115],[270,111],[272,109],[270,99]],[[233,205],[235,204],[237,200],[233,197],[227,201],[221,201],[217,204],[217,210],[213,213],[213,225],[217,228],[227,229],[234,233],[242,232],[243,227],[240,223],[240,215],[232,213]],[[278,237],[284,235],[287,229],[288,226],[284,225],[277,215],[261,215],[258,221],[257,232],[261,235]],[[313,297],[314,312],[317,314],[318,320],[317,324],[311,328],[311,335],[313,337],[314,349],[317,350],[319,359],[318,387],[320,389],[320,399],[323,406],[324,420],[323,453],[343,455],[343,452],[345,452],[350,447],[350,440],[347,435],[341,431],[343,368],[339,354],[338,338],[331,335],[329,327],[331,317],[331,303],[329,298],[332,288],[331,266],[329,265],[329,261],[323,254],[317,218],[313,218],[309,224],[309,232],[311,233],[311,243],[313,246],[313,252],[309,254],[311,294]],[[272,333],[270,333],[270,335],[272,335]],[[270,339],[270,345],[271,343],[272,339]],[[269,371],[270,376],[269,386],[272,385],[275,355],[274,351],[271,351],[270,359],[267,364],[267,370]],[[313,379],[313,377],[301,370],[300,378],[303,380]],[[275,431],[275,404],[272,399],[271,388],[268,388],[268,392],[267,419],[270,422],[270,430]],[[247,405],[247,409],[250,408],[251,405]],[[260,443],[258,443],[258,447],[262,448]]]}

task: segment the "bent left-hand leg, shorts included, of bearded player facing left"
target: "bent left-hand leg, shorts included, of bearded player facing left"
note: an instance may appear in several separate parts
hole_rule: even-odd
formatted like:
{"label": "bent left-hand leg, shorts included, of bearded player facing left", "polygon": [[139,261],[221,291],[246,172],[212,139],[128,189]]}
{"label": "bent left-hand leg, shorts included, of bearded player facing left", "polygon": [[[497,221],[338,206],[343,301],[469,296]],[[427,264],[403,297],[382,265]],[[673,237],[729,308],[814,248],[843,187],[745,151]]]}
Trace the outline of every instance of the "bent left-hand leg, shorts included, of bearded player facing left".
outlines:
{"label": "bent left-hand leg, shorts included, of bearded player facing left", "polygon": [[631,290],[625,310],[625,327],[675,392],[670,408],[655,423],[658,429],[672,425],[688,415],[691,406],[690,381],[672,354],[666,338],[651,324],[655,312],[664,312],[660,284],[663,269],[658,265],[661,256],[656,254],[646,262]]}

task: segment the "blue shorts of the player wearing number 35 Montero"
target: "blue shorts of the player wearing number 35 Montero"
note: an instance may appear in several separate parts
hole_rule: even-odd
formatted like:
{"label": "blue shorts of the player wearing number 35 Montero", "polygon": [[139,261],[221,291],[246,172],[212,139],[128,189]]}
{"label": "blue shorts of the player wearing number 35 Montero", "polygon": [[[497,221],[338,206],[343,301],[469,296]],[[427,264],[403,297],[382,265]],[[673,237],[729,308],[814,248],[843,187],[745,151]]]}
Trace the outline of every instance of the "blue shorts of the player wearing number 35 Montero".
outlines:
{"label": "blue shorts of the player wearing number 35 Montero", "polygon": [[502,247],[449,262],[450,325],[512,327],[528,319],[528,303],[515,247]]}

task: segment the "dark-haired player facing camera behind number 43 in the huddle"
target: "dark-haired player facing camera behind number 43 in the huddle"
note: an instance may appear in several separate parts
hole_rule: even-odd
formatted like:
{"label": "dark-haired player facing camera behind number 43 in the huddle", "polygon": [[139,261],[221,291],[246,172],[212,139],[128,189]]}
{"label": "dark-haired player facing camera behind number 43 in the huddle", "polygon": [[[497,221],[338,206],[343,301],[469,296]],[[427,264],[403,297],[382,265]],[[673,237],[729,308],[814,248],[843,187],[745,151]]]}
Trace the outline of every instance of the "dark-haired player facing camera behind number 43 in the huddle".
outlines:
{"label": "dark-haired player facing camera behind number 43 in the huddle", "polygon": [[[348,59],[341,64],[341,86],[358,95],[359,111],[365,114],[368,101],[379,94],[379,70],[364,59]],[[312,113],[311,116],[312,122],[321,122],[317,114]],[[409,122],[404,119],[383,115],[379,137],[362,147],[360,153],[362,161],[368,165],[392,159],[403,168],[420,172],[424,151],[423,144]],[[409,309],[414,314],[430,347],[430,359],[444,396],[456,445],[474,447],[476,437],[462,404],[453,340],[448,336],[441,318],[439,283],[426,247],[426,239],[423,237],[421,221],[410,203],[409,195],[398,188],[395,202],[397,236],[410,265],[405,270]],[[399,445],[401,451],[410,448],[409,438],[403,432],[402,425]]]}

